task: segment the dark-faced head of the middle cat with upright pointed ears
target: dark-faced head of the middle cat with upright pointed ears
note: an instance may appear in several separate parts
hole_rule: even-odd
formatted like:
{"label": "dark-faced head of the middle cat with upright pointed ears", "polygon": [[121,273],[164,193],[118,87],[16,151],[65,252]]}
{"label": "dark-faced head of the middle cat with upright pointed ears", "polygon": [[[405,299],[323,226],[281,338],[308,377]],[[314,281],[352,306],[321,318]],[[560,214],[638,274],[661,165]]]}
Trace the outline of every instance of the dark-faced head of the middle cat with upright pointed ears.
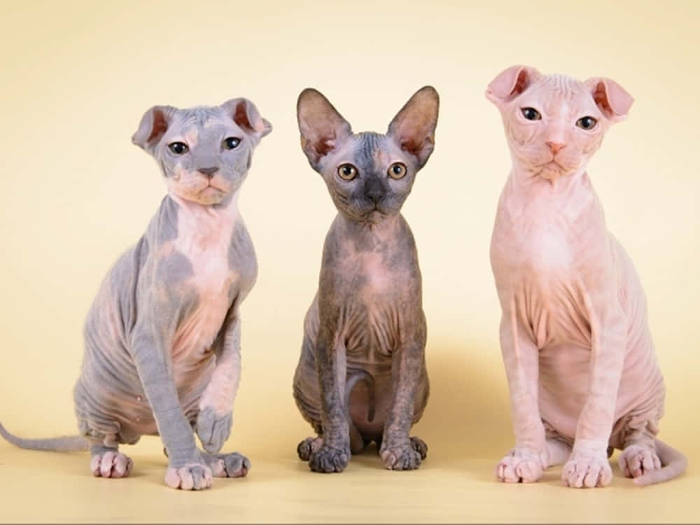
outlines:
{"label": "dark-faced head of the middle cat with upright pointed ears", "polygon": [[373,224],[398,214],[416,173],[433,153],[438,105],[437,91],[423,87],[386,134],[354,134],[323,94],[302,91],[297,101],[302,150],[341,214]]}

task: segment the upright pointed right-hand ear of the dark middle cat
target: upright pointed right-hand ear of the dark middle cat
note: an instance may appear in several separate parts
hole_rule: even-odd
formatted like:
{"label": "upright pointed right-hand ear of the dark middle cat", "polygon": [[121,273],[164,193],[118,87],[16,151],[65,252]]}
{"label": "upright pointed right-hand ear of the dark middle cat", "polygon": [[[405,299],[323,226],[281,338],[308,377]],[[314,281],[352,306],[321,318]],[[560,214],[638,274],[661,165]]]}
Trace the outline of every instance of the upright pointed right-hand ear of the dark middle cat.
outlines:
{"label": "upright pointed right-hand ear of the dark middle cat", "polygon": [[398,141],[401,149],[418,160],[420,169],[435,147],[435,126],[440,97],[435,87],[421,87],[396,113],[386,134]]}

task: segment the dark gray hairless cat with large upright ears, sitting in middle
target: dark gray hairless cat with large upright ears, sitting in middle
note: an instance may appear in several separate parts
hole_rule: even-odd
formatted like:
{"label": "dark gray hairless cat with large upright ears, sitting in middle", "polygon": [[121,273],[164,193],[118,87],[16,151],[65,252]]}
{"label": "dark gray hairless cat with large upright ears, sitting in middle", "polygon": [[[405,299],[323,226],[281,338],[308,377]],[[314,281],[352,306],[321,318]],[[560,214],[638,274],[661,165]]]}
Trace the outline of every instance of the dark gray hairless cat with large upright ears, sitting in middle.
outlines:
{"label": "dark gray hairless cat with large upright ears, sitting in middle", "polygon": [[428,400],[426,318],[416,245],[400,209],[433,152],[437,92],[416,92],[386,135],[353,134],[316,90],[297,102],[302,149],[339,214],[304,320],[294,398],[318,437],[297,447],[316,472],[342,472],[374,441],[386,468],[418,468],[409,437]]}

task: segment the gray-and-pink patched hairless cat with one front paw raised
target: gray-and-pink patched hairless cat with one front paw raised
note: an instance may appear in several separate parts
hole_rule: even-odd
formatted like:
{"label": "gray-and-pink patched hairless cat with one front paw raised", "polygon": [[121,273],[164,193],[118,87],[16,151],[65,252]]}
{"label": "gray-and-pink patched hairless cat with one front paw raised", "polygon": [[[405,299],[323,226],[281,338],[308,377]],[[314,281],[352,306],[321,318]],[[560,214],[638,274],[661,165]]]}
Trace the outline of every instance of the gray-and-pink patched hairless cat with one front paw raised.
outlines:
{"label": "gray-and-pink patched hairless cat with one front paw raised", "polygon": [[238,193],[253,149],[271,130],[242,98],[146,112],[132,141],[158,161],[168,195],[87,314],[73,391],[83,437],[25,440],[2,426],[0,435],[30,449],[89,447],[95,476],[124,477],[132,461],[118,445],[160,434],[173,488],[246,475],[246,457],[218,452],[240,377],[239,307],[257,276]]}

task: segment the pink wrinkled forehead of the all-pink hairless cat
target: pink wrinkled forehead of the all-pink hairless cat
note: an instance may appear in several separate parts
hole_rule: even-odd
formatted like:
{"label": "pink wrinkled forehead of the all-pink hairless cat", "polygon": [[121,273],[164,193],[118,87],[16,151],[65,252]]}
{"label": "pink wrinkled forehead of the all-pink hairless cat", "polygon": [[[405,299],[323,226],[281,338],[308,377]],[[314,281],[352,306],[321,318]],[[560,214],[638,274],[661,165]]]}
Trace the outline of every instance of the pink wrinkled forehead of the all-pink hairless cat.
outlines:
{"label": "pink wrinkled forehead of the all-pink hairless cat", "polygon": [[564,75],[545,75],[516,99],[519,107],[533,106],[546,113],[598,113],[591,87]]}

